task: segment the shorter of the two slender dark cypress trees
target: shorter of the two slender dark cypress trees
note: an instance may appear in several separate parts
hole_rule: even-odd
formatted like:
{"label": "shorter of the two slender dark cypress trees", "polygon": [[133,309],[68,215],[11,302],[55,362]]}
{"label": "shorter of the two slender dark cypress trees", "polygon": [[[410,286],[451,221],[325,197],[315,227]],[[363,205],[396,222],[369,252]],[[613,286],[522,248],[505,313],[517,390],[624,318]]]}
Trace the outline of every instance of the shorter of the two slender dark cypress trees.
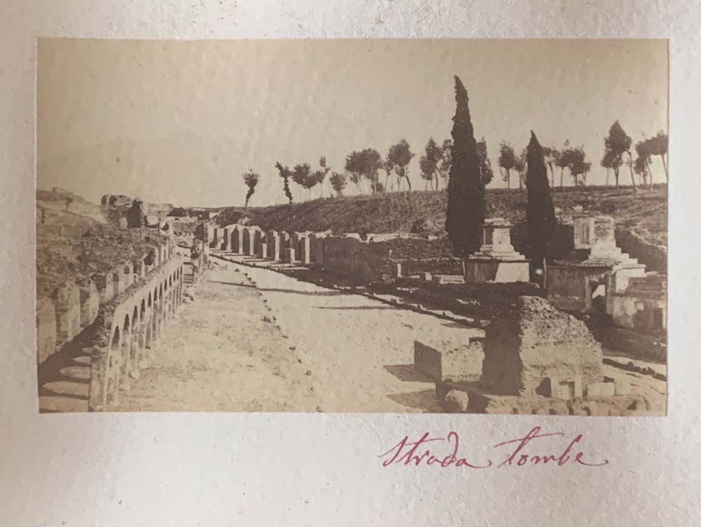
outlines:
{"label": "shorter of the two slender dark cypress trees", "polygon": [[545,285],[545,259],[547,244],[555,231],[555,212],[550,196],[550,185],[547,182],[547,168],[543,147],[540,146],[536,134],[531,130],[531,142],[526,149],[526,190],[528,205],[526,207],[526,223],[531,240],[531,269],[536,275],[536,281]]}

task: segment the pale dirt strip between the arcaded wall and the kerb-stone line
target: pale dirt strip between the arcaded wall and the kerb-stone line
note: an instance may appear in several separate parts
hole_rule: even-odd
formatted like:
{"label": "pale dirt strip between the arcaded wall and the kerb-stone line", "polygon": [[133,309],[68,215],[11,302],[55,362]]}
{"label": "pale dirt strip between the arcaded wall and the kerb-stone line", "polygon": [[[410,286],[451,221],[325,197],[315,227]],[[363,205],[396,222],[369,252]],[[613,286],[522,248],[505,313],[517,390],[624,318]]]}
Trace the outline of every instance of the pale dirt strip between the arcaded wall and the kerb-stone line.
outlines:
{"label": "pale dirt strip between the arcaded wall and the kerb-stone line", "polygon": [[240,273],[214,266],[118,411],[317,411],[309,364]]}

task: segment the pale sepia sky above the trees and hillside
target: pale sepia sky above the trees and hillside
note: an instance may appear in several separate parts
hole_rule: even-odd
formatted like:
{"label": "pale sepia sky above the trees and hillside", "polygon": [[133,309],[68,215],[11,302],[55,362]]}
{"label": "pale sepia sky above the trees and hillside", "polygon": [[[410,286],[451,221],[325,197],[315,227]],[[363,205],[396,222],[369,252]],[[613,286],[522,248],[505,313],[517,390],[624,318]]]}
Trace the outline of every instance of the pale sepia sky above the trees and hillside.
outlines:
{"label": "pale sepia sky above the trees and hillside", "polygon": [[[38,64],[37,186],[95,202],[243,205],[252,169],[250,205],[284,203],[275,161],[326,156],[342,172],[351,151],[385,156],[402,138],[423,189],[418,158],[429,137],[450,137],[455,74],[495,173],[499,143],[518,152],[533,129],[543,145],[583,145],[587,183],[603,184],[615,119],[634,143],[667,130],[667,41],[41,39]],[[652,170],[664,181],[658,160]]]}

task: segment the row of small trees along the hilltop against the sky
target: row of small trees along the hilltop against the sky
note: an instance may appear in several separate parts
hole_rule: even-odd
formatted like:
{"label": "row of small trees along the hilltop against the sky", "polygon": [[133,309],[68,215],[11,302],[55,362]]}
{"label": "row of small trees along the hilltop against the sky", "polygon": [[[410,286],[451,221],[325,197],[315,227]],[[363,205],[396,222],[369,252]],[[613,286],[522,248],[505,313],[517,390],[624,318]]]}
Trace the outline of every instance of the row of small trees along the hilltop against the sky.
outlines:
{"label": "row of small trees along the hilltop against the sky", "polygon": [[[652,186],[651,160],[653,156],[660,156],[665,178],[667,178],[667,143],[667,135],[662,131],[658,132],[655,137],[643,139],[635,145],[637,158],[633,160],[632,139],[622,129],[620,123],[615,121],[608,131],[608,136],[604,139],[604,156],[601,158],[601,166],[606,168],[606,185],[608,185],[609,175],[613,171],[615,186],[618,187],[620,167],[627,165],[635,190],[637,190],[637,186],[634,174],[638,175],[642,184]],[[555,186],[556,169],[559,169],[559,186],[564,186],[565,170],[568,171],[574,186],[587,184],[587,175],[592,168],[592,163],[586,159],[583,146],[571,146],[569,140],[566,140],[562,149],[556,149],[554,146],[544,146],[542,149],[543,162],[550,169],[550,186]],[[475,142],[475,150],[479,163],[479,177],[486,186],[494,179],[494,172],[487,155],[484,137]],[[449,172],[454,164],[453,151],[454,139],[445,139],[441,144],[435,142],[433,137],[428,139],[424,154],[418,162],[421,177],[426,182],[426,189],[440,190],[440,183],[449,177]],[[406,183],[406,188],[411,191],[409,163],[412,158],[414,158],[414,153],[406,139],[390,146],[384,157],[375,149],[353,151],[346,156],[344,172],[332,172],[329,183],[338,196],[343,196],[343,190],[346,189],[348,182],[355,185],[358,193],[362,193],[362,183],[365,181],[368,182],[372,193],[393,191],[395,184],[397,191],[400,191],[403,183]],[[275,163],[275,167],[283,179],[285,196],[290,203],[292,203],[290,179],[297,184],[300,191],[306,189],[311,198],[311,189],[316,185],[322,186],[327,175],[331,172],[326,158],[323,156],[319,160],[318,169],[315,170],[312,170],[309,163],[294,165],[290,169],[287,165],[278,162]],[[519,190],[522,190],[528,168],[528,149],[523,149],[521,153],[517,154],[511,144],[501,142],[498,167],[501,177],[509,189],[511,188],[511,174],[514,171],[517,175]],[[384,175],[384,182],[380,181],[381,174]],[[260,180],[260,175],[249,170],[243,174],[243,179],[248,187],[245,203],[247,207]]]}

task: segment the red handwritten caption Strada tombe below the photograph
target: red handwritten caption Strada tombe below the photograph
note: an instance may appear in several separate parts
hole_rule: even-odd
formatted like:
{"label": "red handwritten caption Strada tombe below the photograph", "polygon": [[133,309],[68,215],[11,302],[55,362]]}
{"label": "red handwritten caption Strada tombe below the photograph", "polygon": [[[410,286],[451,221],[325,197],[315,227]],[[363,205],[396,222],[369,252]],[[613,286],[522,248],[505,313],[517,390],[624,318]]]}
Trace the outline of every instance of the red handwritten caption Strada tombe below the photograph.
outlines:
{"label": "red handwritten caption Strada tombe below the photograph", "polygon": [[457,432],[449,432],[446,437],[430,437],[429,432],[426,432],[416,441],[409,441],[409,436],[405,436],[404,439],[378,457],[383,458],[383,467],[390,465],[434,465],[442,468],[484,469],[541,464],[562,467],[568,463],[584,465],[585,467],[608,465],[608,460],[592,460],[591,456],[585,453],[581,444],[582,434],[578,434],[569,442],[566,442],[566,439],[560,441],[555,446],[553,446],[552,439],[543,441],[544,437],[564,437],[564,435],[563,432],[541,434],[539,426],[533,427],[524,437],[495,444],[494,449],[500,451],[500,458],[493,462],[491,459],[475,460],[463,457],[460,453],[460,439]]}

